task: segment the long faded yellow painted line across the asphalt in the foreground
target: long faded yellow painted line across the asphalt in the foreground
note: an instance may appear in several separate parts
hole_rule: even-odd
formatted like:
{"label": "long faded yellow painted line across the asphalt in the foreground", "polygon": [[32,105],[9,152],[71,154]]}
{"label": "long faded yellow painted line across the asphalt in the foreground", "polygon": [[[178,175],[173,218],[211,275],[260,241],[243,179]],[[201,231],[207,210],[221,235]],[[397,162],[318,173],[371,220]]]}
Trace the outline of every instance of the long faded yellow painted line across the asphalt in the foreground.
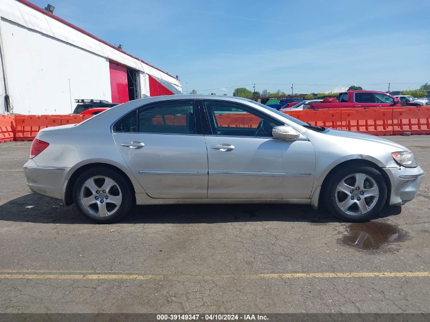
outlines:
{"label": "long faded yellow painted line across the asphalt in the foreground", "polygon": [[276,278],[359,278],[359,277],[430,277],[430,272],[353,272],[353,273],[281,273],[244,275],[146,275],[146,274],[0,274],[0,279],[94,279],[94,280],[198,280],[198,279],[276,279]]}

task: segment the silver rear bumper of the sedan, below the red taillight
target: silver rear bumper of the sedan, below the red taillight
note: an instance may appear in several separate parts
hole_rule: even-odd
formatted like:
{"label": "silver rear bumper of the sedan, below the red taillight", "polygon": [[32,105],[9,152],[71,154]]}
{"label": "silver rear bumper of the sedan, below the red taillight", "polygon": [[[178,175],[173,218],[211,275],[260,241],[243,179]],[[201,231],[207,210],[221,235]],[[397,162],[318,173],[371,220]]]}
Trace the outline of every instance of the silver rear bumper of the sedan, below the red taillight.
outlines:
{"label": "silver rear bumper of the sedan, below the red taillight", "polygon": [[33,159],[24,164],[27,186],[35,193],[56,199],[63,198],[63,186],[69,168],[38,166]]}

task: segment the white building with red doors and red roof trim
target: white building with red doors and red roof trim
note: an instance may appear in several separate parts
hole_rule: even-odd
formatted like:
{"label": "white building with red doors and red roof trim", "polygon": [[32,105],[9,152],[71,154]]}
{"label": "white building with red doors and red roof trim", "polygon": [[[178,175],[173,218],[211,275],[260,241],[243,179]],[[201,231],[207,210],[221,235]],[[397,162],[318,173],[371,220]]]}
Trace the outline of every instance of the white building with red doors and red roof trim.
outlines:
{"label": "white building with red doors and red roof trim", "polygon": [[26,0],[0,0],[0,114],[68,114],[75,99],[178,94],[177,77]]}

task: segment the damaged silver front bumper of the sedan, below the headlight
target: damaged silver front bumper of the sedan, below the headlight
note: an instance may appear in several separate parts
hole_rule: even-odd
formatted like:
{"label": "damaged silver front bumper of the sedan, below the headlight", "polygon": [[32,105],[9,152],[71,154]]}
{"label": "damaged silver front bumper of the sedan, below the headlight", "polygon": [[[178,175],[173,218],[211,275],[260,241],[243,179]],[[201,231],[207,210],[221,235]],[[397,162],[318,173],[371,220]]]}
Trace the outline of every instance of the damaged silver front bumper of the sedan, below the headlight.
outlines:
{"label": "damaged silver front bumper of the sedan, below the headlight", "polygon": [[383,168],[391,182],[390,205],[401,206],[415,198],[421,186],[424,171],[420,166],[416,168]]}

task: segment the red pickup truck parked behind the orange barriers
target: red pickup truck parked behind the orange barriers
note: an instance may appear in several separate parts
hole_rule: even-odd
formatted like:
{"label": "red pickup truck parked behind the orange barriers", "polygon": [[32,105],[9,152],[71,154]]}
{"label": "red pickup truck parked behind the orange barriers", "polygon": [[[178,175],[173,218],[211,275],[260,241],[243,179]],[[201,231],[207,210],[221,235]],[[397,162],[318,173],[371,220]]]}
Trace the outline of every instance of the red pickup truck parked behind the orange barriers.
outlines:
{"label": "red pickup truck parked behind the orange barriers", "polygon": [[309,104],[309,109],[327,108],[369,108],[400,106],[394,96],[378,91],[348,91],[339,93],[336,98],[325,98],[321,103]]}

